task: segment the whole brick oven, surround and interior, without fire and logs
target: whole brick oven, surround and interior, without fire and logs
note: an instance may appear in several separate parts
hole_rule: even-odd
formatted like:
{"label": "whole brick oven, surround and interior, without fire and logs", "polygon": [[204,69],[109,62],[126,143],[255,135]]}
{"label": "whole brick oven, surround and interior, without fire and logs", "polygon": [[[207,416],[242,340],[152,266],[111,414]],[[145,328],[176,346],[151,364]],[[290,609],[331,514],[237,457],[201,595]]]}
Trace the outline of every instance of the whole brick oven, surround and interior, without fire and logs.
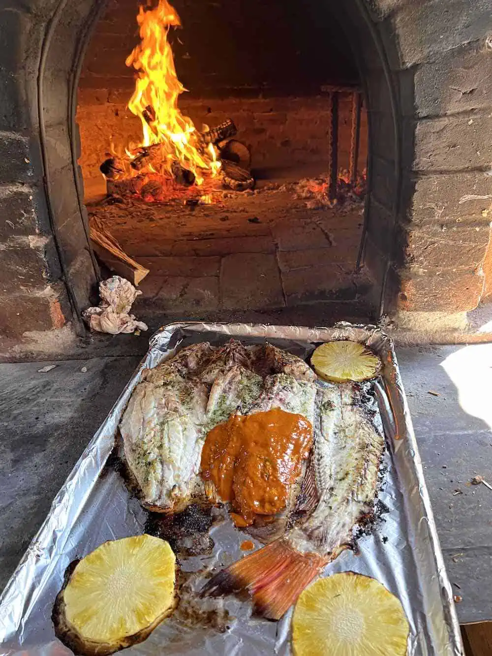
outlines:
{"label": "whole brick oven, surround and interior, without fire and logs", "polygon": [[[180,108],[199,131],[236,122],[255,190],[222,190],[212,205],[104,201],[111,141],[141,134],[125,66],[138,3],[7,2],[1,350],[68,352],[87,338],[83,312],[110,273],[94,255],[94,220],[150,270],[133,311],[154,317],[151,328],[176,317],[359,318],[413,342],[492,335],[480,318],[492,297],[489,3],[175,5],[182,28],[170,39],[190,90]],[[337,168],[349,166],[354,90],[365,199],[327,207],[298,182],[333,163],[335,97]]]}

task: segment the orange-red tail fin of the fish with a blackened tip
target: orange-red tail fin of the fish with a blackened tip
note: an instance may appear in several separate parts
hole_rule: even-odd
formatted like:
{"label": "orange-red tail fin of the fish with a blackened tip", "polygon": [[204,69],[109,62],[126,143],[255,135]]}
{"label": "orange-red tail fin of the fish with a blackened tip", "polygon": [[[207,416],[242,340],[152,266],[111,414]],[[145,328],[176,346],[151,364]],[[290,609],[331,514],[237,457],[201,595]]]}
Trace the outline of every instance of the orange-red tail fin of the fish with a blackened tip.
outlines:
{"label": "orange-red tail fin of the fish with a blackened tip", "polygon": [[201,590],[219,596],[247,590],[255,611],[280,619],[327,562],[318,554],[301,554],[279,539],[218,572]]}

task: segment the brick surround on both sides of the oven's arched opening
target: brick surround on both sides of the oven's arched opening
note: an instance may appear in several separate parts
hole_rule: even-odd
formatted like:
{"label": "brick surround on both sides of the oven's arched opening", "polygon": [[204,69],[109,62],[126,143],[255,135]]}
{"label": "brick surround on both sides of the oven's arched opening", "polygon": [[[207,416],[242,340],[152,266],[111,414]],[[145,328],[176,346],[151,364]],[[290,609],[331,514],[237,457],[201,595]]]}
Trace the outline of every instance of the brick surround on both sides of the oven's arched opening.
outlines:
{"label": "brick surround on both sides of the oven's arched opening", "polygon": [[[7,338],[77,325],[96,281],[77,193],[73,92],[104,4],[10,0],[0,10],[0,207],[12,216],[0,226]],[[361,256],[382,291],[380,307],[466,312],[482,297],[490,236],[488,0],[451,0],[444,9],[439,0],[333,7],[342,12],[369,104]]]}

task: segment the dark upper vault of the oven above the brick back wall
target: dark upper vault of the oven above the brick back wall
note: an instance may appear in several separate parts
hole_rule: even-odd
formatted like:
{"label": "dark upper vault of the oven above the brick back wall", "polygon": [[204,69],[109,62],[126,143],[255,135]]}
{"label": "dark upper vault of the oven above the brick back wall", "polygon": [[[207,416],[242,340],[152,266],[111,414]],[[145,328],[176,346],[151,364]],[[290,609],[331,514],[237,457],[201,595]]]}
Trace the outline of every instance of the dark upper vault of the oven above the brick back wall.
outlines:
{"label": "dark upper vault of the oven above the brick back wall", "polygon": [[[169,31],[179,79],[195,97],[268,91],[315,94],[357,83],[358,71],[329,3],[318,0],[173,0],[182,26]],[[81,87],[132,89],[125,59],[138,43],[136,0],[108,0],[81,71]],[[234,92],[231,92],[234,90]]]}

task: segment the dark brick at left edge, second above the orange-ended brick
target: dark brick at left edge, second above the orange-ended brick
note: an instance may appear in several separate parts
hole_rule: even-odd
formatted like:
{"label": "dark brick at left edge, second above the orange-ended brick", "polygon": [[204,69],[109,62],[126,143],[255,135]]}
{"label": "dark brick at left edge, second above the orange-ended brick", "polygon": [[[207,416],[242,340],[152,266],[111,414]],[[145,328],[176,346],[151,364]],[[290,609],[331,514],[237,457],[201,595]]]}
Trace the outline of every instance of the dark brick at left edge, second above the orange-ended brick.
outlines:
{"label": "dark brick at left edge, second above the orange-ended brick", "polygon": [[23,184],[0,185],[0,239],[49,231],[44,194]]}

